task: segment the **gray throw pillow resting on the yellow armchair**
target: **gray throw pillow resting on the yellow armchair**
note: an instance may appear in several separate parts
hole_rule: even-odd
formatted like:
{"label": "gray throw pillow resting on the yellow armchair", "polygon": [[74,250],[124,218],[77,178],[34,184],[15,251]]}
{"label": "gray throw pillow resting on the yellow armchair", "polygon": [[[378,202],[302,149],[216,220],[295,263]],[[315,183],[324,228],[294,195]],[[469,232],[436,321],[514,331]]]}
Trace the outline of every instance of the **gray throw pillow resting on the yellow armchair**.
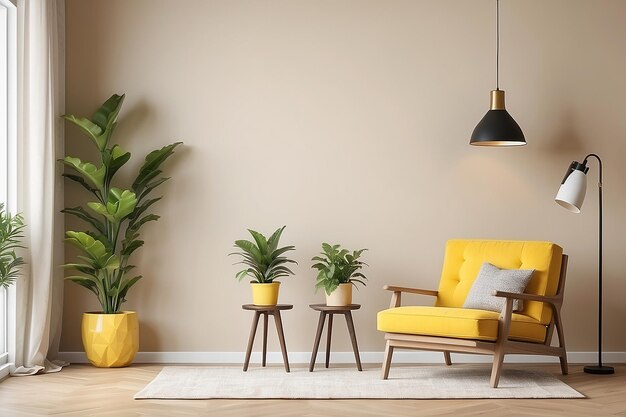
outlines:
{"label": "gray throw pillow resting on the yellow armchair", "polygon": [[[500,312],[505,298],[493,295],[495,290],[522,294],[533,276],[534,269],[500,269],[485,262],[467,294],[463,308]],[[513,311],[523,308],[522,300],[513,301]]]}

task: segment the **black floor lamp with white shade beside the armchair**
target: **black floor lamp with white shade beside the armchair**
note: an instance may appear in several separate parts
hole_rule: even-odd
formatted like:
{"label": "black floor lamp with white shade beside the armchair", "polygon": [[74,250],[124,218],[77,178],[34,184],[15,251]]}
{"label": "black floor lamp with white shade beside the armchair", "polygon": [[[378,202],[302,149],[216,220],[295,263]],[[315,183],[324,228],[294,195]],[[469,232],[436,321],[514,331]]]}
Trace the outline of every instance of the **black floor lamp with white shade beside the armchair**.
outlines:
{"label": "black floor lamp with white shade beside the armchair", "polygon": [[554,200],[567,210],[580,213],[587,191],[587,171],[589,171],[587,160],[590,157],[596,158],[600,166],[598,181],[598,364],[585,366],[584,370],[589,374],[607,375],[615,373],[615,369],[612,366],[602,365],[602,160],[600,157],[592,153],[585,157],[582,164],[577,161],[572,162]]}

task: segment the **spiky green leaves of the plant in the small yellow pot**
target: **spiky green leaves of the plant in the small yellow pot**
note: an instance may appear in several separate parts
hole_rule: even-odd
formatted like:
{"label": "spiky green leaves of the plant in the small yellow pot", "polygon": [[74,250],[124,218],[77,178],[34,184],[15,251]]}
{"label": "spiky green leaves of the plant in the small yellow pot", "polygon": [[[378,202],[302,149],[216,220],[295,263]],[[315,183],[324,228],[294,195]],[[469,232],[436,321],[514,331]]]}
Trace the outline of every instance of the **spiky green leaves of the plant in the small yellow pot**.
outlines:
{"label": "spiky green leaves of the plant in the small yellow pot", "polygon": [[241,252],[234,252],[230,255],[241,256],[243,259],[238,263],[246,265],[246,268],[236,275],[239,281],[249,276],[254,281],[264,284],[293,275],[286,264],[297,262],[281,255],[294,250],[295,246],[278,247],[278,241],[283,230],[285,230],[285,226],[276,230],[269,239],[266,239],[261,233],[248,229],[256,244],[249,240],[235,241],[235,247],[241,249]]}

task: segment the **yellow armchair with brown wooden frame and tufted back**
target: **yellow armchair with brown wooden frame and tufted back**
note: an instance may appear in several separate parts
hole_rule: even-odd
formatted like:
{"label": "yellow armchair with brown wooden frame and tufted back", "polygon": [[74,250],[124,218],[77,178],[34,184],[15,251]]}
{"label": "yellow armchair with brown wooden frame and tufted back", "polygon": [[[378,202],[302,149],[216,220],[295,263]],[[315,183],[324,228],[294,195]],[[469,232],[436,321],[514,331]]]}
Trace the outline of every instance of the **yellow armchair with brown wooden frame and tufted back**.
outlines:
{"label": "yellow armchair with brown wooden frame and tufted back", "polygon": [[[501,312],[463,308],[465,298],[484,262],[504,269],[534,269],[524,294],[494,290],[505,299]],[[497,387],[507,353],[558,356],[567,374],[561,305],[567,255],[550,242],[450,240],[446,244],[439,289],[421,290],[387,285],[389,309],[378,313],[378,330],[385,332],[382,377],[387,379],[394,349],[442,351],[447,365],[450,352],[493,355],[491,386]],[[434,306],[401,306],[402,294],[435,297]],[[513,301],[523,309],[513,312]],[[557,331],[558,346],[552,346]]]}

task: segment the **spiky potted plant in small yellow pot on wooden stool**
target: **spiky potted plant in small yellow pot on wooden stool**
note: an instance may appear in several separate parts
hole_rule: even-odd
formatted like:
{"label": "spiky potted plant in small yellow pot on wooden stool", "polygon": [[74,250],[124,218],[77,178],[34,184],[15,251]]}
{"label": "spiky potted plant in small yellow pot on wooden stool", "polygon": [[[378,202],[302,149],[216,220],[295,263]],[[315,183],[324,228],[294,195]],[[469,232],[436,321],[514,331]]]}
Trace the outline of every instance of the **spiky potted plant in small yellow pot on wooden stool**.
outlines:
{"label": "spiky potted plant in small yellow pot on wooden stool", "polygon": [[285,226],[276,230],[269,239],[266,239],[261,233],[248,229],[254,242],[249,240],[235,241],[235,247],[241,249],[241,252],[234,252],[230,255],[241,256],[243,259],[238,263],[246,266],[245,269],[237,273],[236,278],[239,281],[246,276],[252,278],[250,285],[252,286],[252,303],[254,305],[276,305],[280,288],[280,282],[276,280],[293,275],[286,264],[297,262],[282,255],[294,250],[295,246],[278,247],[278,241],[283,230],[285,230]]}

